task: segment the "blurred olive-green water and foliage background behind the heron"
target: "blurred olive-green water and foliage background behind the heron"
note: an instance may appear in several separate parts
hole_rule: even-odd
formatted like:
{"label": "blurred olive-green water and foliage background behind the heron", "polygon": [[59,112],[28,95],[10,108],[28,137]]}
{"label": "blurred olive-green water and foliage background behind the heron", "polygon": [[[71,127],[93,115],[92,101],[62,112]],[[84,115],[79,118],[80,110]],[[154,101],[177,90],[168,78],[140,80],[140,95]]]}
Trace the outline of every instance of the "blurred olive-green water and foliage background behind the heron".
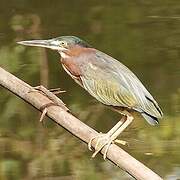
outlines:
{"label": "blurred olive-green water and foliage background behind the heron", "polygon": [[[140,116],[123,147],[164,179],[180,178],[180,2],[178,0],[0,0],[0,65],[32,86],[61,87],[83,122],[108,131],[119,115],[62,70],[59,55],[16,41],[76,35],[127,65],[161,105],[158,127]],[[0,88],[0,179],[131,179],[85,144]]]}

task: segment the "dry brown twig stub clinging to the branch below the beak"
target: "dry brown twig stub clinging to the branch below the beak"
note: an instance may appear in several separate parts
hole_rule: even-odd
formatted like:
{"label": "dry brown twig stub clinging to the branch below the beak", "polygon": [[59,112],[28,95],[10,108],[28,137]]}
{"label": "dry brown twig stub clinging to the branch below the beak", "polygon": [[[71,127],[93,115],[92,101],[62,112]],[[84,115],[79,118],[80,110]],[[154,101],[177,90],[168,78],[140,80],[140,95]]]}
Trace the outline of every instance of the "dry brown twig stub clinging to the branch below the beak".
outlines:
{"label": "dry brown twig stub clinging to the branch below the beak", "polygon": [[40,85],[40,86],[34,87],[32,90],[29,91],[29,93],[34,92],[34,91],[42,92],[44,95],[46,95],[52,101],[51,103],[45,104],[42,107],[40,107],[40,110],[42,111],[42,114],[41,114],[41,117],[40,117],[40,122],[43,121],[44,116],[47,113],[47,108],[50,107],[50,106],[60,106],[65,111],[69,110],[66,107],[66,105],[61,101],[61,99],[59,99],[55,95],[55,94],[59,94],[59,93],[65,92],[65,91],[61,91],[60,88],[48,90],[44,86]]}

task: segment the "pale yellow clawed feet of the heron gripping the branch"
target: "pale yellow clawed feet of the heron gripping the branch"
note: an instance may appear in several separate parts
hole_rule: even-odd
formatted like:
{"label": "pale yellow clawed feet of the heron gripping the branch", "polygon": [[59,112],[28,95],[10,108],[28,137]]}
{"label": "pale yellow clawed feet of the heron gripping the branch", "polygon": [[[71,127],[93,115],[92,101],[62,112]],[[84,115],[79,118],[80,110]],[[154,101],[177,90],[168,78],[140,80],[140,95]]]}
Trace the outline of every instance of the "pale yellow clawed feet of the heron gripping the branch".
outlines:
{"label": "pale yellow clawed feet of the heron gripping the branch", "polygon": [[107,157],[107,153],[108,153],[108,150],[109,150],[109,147],[110,147],[111,144],[114,144],[115,142],[117,142],[119,144],[122,144],[122,145],[127,144],[127,142],[123,141],[123,140],[114,140],[111,136],[109,136],[108,133],[106,133],[106,134],[100,133],[96,137],[93,137],[93,138],[90,139],[90,141],[88,143],[88,148],[91,151],[92,151],[92,148],[91,148],[92,147],[92,142],[95,139],[97,139],[97,142],[96,142],[96,145],[95,145],[95,152],[93,153],[92,158],[94,158],[98,154],[98,152],[100,152],[106,146],[105,147],[105,152],[103,154],[104,160]]}

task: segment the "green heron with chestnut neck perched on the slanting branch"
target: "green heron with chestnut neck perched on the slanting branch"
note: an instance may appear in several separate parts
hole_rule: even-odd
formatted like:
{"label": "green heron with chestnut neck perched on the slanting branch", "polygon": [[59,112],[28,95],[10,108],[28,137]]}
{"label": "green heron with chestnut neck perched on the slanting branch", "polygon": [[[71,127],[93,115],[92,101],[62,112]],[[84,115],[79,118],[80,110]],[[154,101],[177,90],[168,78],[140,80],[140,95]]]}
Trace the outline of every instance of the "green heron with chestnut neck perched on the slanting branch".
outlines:
{"label": "green heron with chestnut neck perched on the slanting branch", "polygon": [[133,121],[132,111],[137,111],[151,125],[158,124],[162,111],[141,81],[125,65],[111,56],[91,47],[75,36],[61,36],[49,40],[21,41],[26,46],[45,47],[58,51],[65,71],[81,87],[101,103],[112,107],[123,118],[106,134],[100,133],[92,157],[105,146],[108,148],[119,134]]}

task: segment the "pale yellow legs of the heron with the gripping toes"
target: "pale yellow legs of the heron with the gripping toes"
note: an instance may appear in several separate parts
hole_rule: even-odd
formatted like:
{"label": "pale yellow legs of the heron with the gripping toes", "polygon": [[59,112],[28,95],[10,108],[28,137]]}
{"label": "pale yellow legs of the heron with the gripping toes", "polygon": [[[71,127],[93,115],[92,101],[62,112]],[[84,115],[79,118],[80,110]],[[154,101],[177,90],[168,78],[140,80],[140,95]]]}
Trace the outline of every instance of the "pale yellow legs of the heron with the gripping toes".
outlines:
{"label": "pale yellow legs of the heron with the gripping toes", "polygon": [[[123,124],[120,121],[108,133],[95,137],[98,138],[98,140],[95,145],[95,152],[93,153],[92,157],[95,157],[96,154],[100,152],[104,146],[107,146],[105,149],[105,153],[103,155],[104,159],[106,159],[109,146],[112,143],[114,143],[114,141],[116,142],[116,138],[119,136],[119,134],[121,134],[124,131],[124,129],[133,121],[133,117],[130,113],[126,112],[126,114],[124,114],[123,112],[123,115],[126,117],[126,120],[123,121],[124,122]],[[117,140],[117,142],[119,142],[119,140]],[[120,143],[122,143],[122,141],[120,141]]]}

